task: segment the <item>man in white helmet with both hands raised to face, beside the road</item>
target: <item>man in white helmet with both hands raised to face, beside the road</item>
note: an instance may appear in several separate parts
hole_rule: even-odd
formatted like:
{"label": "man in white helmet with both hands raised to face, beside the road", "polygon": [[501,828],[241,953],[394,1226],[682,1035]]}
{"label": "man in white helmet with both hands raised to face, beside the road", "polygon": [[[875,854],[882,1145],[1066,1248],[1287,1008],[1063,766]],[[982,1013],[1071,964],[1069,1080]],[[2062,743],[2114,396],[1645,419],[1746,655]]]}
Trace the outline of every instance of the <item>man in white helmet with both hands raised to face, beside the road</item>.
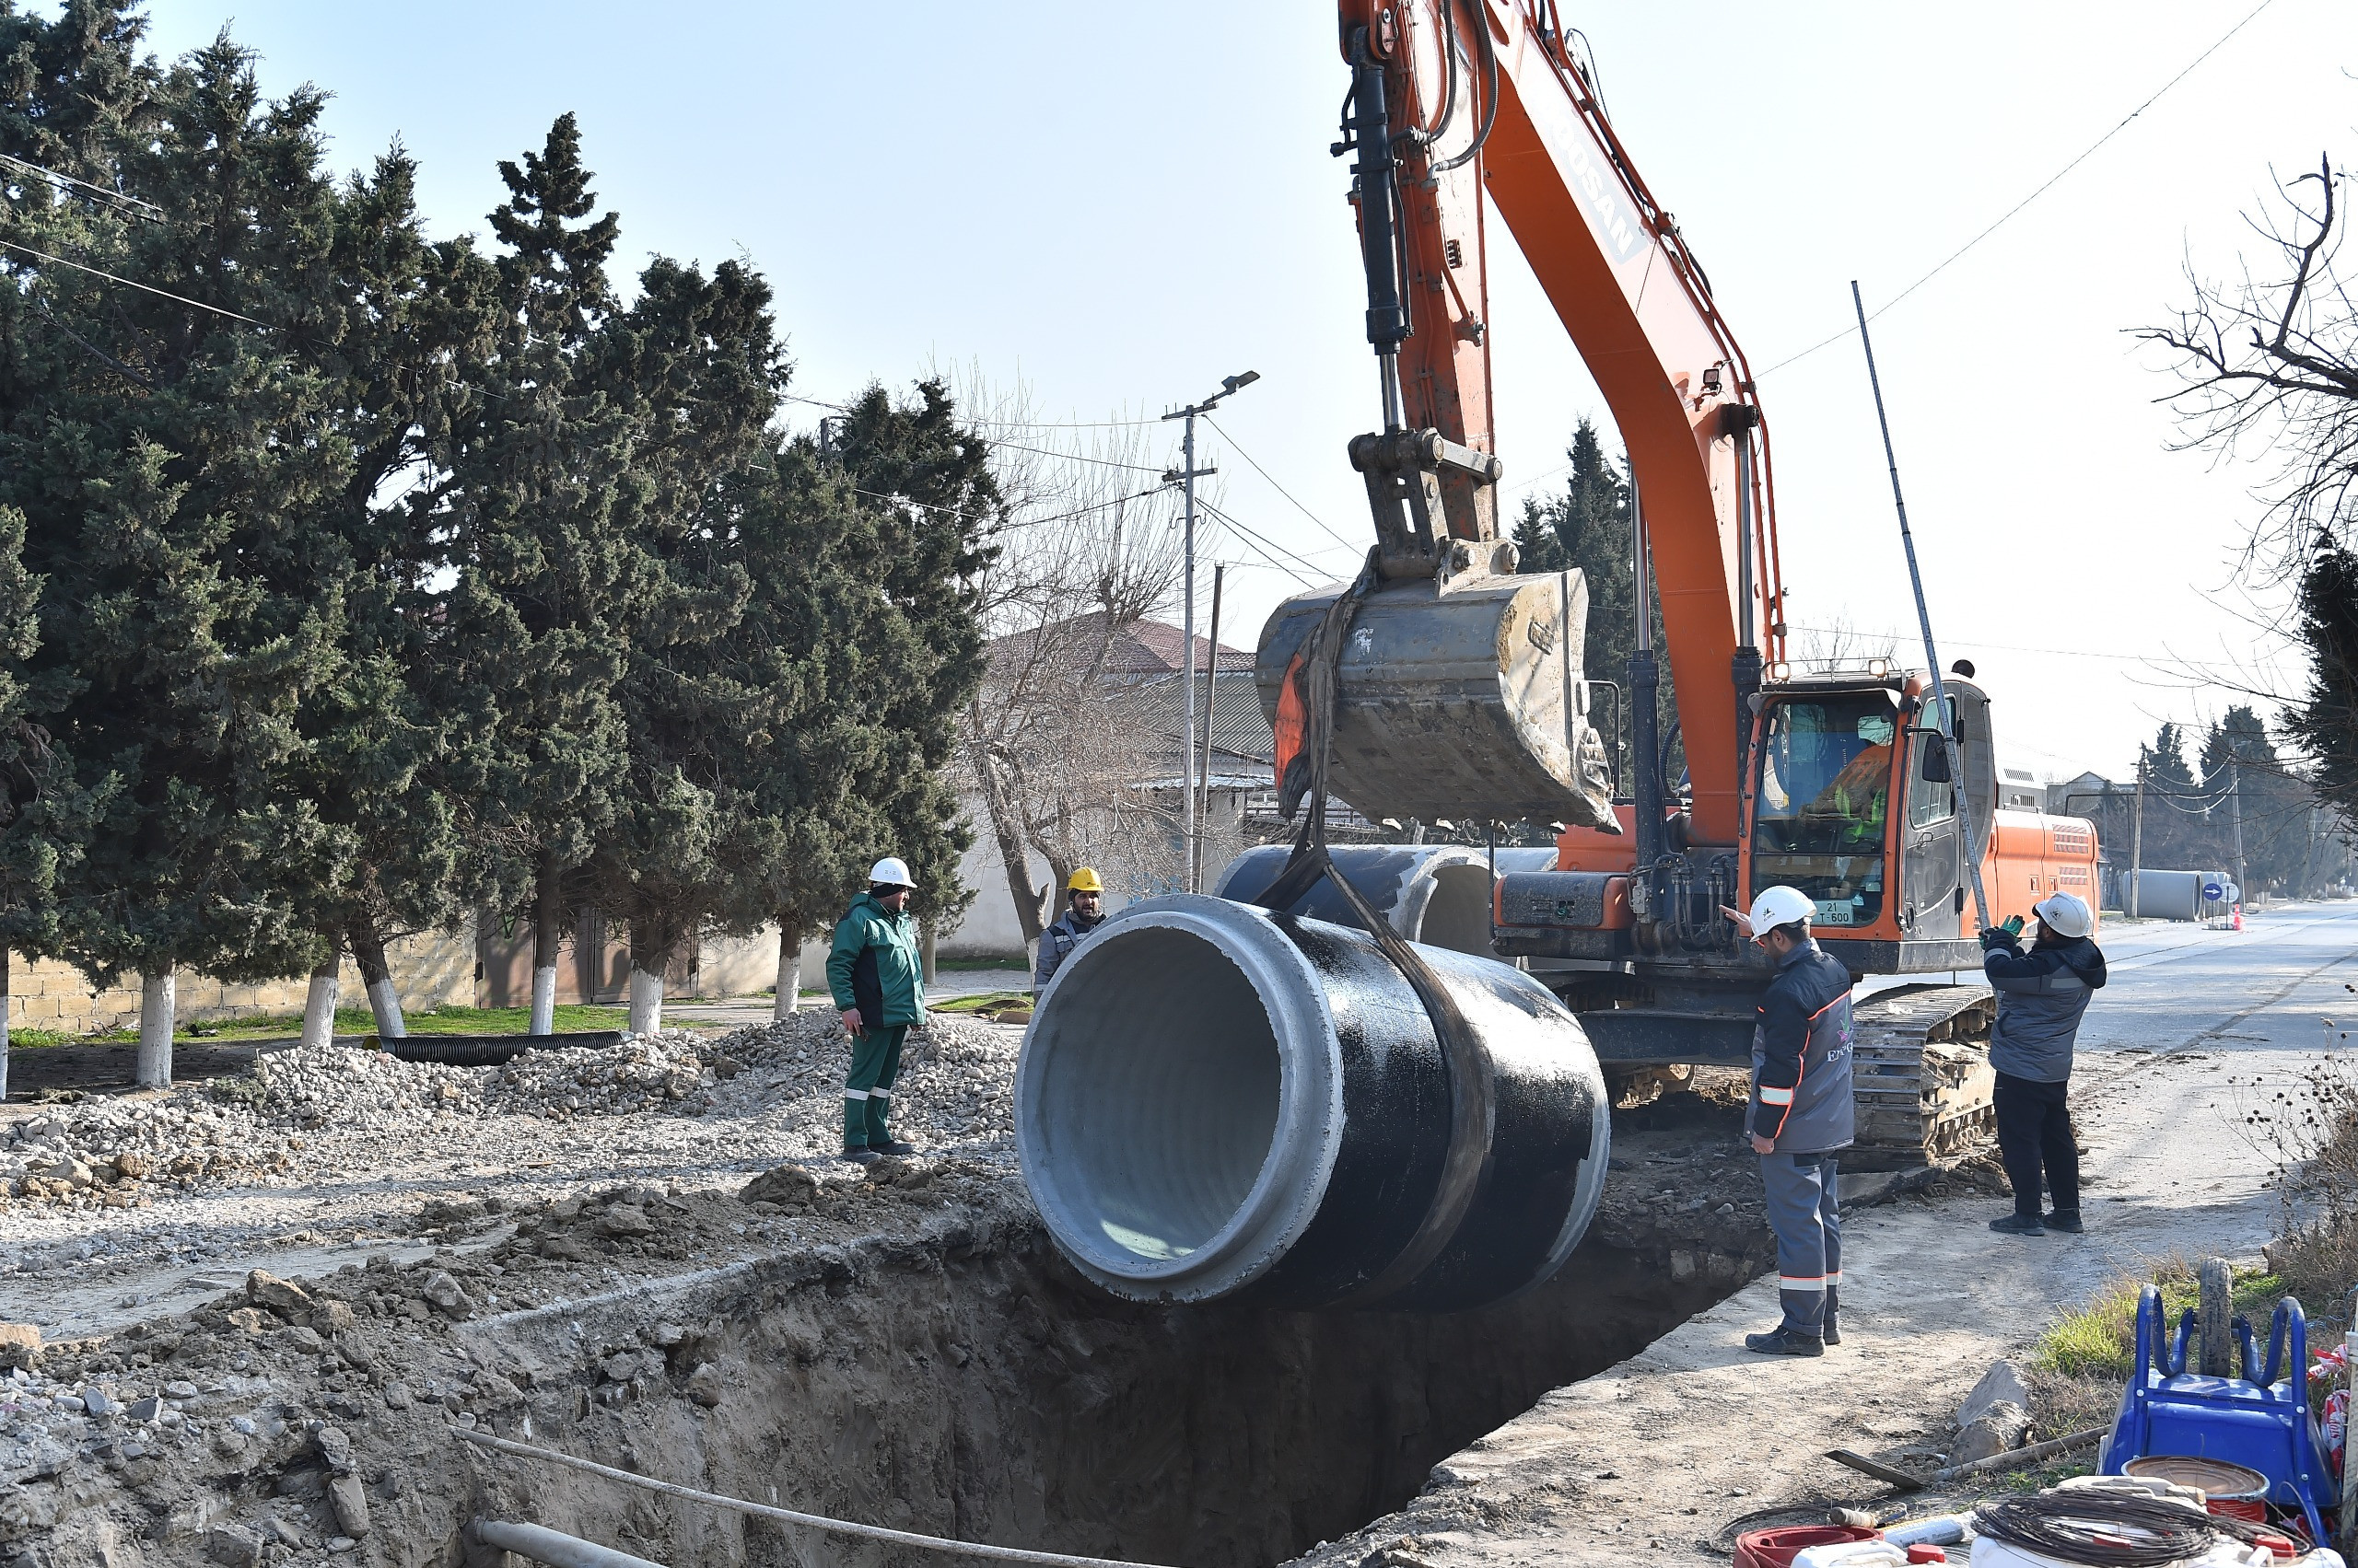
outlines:
{"label": "man in white helmet with both hands raised to face, beside the road", "polygon": [[[2044,1236],[2080,1224],[2080,1144],[2070,1129],[2070,1052],[2080,1019],[2103,986],[2103,953],[2092,941],[2096,915],[2077,894],[2049,894],[2030,905],[2037,941],[2023,953],[2021,917],[1981,934],[1981,971],[1997,990],[1990,1028],[1997,1153],[2014,1184],[2014,1212],[1993,1219],[2007,1236]],[[2040,1212],[2040,1177],[2054,1210]]]}

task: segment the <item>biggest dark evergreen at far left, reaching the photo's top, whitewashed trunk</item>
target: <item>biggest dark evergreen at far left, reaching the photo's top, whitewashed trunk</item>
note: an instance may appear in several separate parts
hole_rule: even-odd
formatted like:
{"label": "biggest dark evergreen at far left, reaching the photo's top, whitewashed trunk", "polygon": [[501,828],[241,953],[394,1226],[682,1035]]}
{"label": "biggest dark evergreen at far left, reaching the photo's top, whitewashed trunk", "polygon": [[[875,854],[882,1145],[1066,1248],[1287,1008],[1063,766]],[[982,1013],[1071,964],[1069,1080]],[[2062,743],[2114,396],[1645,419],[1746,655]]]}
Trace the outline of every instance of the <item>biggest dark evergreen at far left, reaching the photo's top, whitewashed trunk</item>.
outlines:
{"label": "biggest dark evergreen at far left, reaching the photo's top, whitewashed trunk", "polygon": [[[24,179],[7,238],[203,302],[24,252],[0,290],[0,502],[24,512],[42,580],[26,670],[61,698],[57,752],[99,811],[61,875],[54,948],[94,983],[146,979],[139,1078],[160,1082],[174,969],[304,967],[295,889],[342,875],[309,802],[276,788],[295,710],[335,679],[342,601],[257,568],[304,547],[344,474],[316,365],[335,191],[321,94],[264,101],[226,35],[153,73],[118,9],[57,26],[50,54],[85,57],[87,83],[28,85],[42,47],[19,35],[9,116],[47,118],[26,92],[80,104],[26,156],[71,153],[80,179],[163,217]],[[151,101],[127,108],[125,83]]]}

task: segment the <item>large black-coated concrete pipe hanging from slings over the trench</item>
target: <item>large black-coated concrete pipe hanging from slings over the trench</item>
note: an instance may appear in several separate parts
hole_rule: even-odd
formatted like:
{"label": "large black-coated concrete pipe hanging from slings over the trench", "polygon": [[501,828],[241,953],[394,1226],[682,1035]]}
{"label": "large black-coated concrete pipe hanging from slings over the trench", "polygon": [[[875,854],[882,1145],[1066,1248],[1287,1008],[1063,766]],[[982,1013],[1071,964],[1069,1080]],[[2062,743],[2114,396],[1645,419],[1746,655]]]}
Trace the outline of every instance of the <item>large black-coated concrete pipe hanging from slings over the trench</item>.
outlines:
{"label": "large black-coated concrete pipe hanging from slings over the trench", "polygon": [[1023,1179],[1073,1266],[1137,1302],[1410,1311],[1549,1278],[1603,1188],[1596,1056],[1530,976],[1420,953],[1478,1059],[1361,931],[1200,894],[1111,917],[1016,1066]]}

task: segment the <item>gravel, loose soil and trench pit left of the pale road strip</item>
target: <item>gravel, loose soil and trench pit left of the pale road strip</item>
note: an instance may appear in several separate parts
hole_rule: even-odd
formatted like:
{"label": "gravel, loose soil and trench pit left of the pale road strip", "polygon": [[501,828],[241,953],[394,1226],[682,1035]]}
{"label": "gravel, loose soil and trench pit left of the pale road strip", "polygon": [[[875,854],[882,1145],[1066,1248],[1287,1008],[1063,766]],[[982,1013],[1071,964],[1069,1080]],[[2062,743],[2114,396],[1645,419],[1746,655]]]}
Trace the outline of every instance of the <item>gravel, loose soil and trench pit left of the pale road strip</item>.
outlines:
{"label": "gravel, loose soil and trench pit left of the pale road strip", "polygon": [[[19,1292],[35,1276],[87,1276],[75,1292],[94,1297],[144,1290],[174,1259],[203,1269],[255,1203],[368,1217],[288,1254],[307,1278],[215,1266],[156,1304],[80,1313],[111,1332],[38,1351],[0,1327],[0,1368],[19,1363],[0,1379],[0,1563],[457,1568],[486,1561],[462,1535],[479,1514],[674,1568],[887,1556],[495,1455],[453,1427],[934,1535],[1276,1563],[1403,1507],[1441,1460],[1773,1257],[1740,1085],[1705,1073],[1615,1113],[1589,1240],[1519,1302],[1460,1316],[1113,1302],[1056,1257],[1009,1170],[1012,1045],[976,1026],[920,1063],[905,1106],[934,1151],[868,1172],[773,1165],[750,1186],[729,1167],[759,1144],[832,1137],[839,1045],[806,1023],[521,1073],[281,1056],[257,1080],[21,1122]],[[184,1139],[278,1170],[208,1167],[106,1212],[130,1188],[127,1153],[170,1172]],[[630,1179],[580,1179],[599,1141]],[[434,1181],[354,1179],[436,1146]],[[665,1146],[681,1174],[651,1177]],[[457,1151],[500,1174],[469,1184]],[[61,1160],[101,1179],[35,1177]],[[186,1219],[215,1212],[233,1226]],[[111,1261],[94,1226],[123,1221],[139,1257]]]}

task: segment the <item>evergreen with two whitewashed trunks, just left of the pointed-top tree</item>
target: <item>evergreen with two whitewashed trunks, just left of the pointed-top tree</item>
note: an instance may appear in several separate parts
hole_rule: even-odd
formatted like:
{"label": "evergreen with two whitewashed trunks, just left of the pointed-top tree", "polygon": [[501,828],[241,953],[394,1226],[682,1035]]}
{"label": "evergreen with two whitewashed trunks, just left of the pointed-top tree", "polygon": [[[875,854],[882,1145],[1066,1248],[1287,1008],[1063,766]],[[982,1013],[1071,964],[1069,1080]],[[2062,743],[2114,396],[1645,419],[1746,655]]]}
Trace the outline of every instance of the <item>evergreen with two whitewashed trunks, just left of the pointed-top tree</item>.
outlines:
{"label": "evergreen with two whitewashed trunks, just left of the pointed-top tree", "polygon": [[[403,1035],[387,943],[462,924],[490,894],[495,861],[474,854],[472,750],[495,714],[481,689],[441,667],[453,434],[481,408],[479,365],[498,328],[498,288],[472,243],[427,243],[415,163],[396,146],[337,200],[335,316],[323,368],[351,450],[344,483],[285,561],[290,587],[335,585],[344,604],[340,679],[297,714],[304,747],[285,788],[311,799],[342,846],[344,875],[304,889],[318,936],[307,1040],[335,1019],[337,955],[349,948],[380,1035]],[[391,495],[391,500],[380,500]]]}

